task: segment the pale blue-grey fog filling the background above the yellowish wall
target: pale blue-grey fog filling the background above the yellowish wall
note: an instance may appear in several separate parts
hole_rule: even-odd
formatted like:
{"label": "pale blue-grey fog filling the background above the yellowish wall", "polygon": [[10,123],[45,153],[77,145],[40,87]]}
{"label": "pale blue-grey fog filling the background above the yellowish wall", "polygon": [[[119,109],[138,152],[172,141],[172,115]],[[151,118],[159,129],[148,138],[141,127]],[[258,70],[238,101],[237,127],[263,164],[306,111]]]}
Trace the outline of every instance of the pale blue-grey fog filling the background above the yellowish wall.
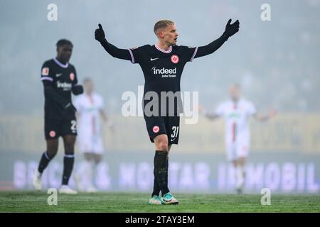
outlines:
{"label": "pale blue-grey fog filling the background above the yellowish wall", "polygon": [[[73,42],[78,79],[92,77],[107,112],[119,114],[121,95],[144,84],[139,65],[118,60],[94,38],[102,23],[118,48],[156,43],[153,26],[161,18],[176,22],[178,45],[201,46],[218,38],[229,18],[240,32],[217,52],[189,62],[183,91],[199,91],[214,109],[239,82],[247,99],[262,110],[319,111],[320,2],[267,1],[271,21],[262,21],[266,1],[0,1],[1,114],[43,114],[41,65],[55,57],[60,38]],[[48,4],[58,21],[48,21]]]}

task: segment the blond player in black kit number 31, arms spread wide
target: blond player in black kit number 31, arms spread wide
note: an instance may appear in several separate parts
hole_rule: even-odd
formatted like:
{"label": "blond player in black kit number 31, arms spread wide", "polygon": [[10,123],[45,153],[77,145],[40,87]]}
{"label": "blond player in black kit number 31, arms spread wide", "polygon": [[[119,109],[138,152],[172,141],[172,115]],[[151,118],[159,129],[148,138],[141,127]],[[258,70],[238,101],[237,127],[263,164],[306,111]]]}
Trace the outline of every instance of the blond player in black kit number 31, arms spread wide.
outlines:
{"label": "blond player in black kit number 31, arms spread wide", "polygon": [[[149,204],[178,204],[178,200],[169,192],[168,187],[168,153],[172,144],[178,144],[181,109],[178,96],[174,101],[173,108],[170,109],[169,106],[168,109],[167,105],[164,106],[161,93],[180,92],[180,79],[186,62],[192,62],[194,58],[215,52],[238,31],[239,21],[231,23],[230,19],[220,38],[208,45],[192,48],[176,45],[178,33],[175,23],[161,20],[154,25],[154,33],[158,38],[156,45],[144,45],[126,50],[119,49],[106,40],[101,24],[95,30],[95,39],[110,55],[138,63],[144,72],[144,120],[149,138],[154,143],[156,150],[154,155],[154,191],[149,199]],[[149,92],[156,92],[159,96],[158,109],[154,110],[153,106],[151,115],[148,111],[149,102],[154,99],[150,99]],[[164,103],[166,104],[166,102]],[[159,196],[160,192],[161,197]]]}

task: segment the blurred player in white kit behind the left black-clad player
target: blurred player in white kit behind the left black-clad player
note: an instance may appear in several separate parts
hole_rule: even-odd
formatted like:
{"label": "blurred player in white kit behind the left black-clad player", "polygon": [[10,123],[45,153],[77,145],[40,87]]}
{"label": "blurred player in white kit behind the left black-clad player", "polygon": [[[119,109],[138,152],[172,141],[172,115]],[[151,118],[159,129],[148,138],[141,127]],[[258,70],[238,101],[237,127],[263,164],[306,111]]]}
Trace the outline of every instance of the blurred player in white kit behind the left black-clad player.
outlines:
{"label": "blurred player in white kit behind the left black-clad player", "polygon": [[107,116],[103,110],[102,96],[94,92],[92,80],[85,79],[83,85],[85,92],[78,96],[74,103],[78,111],[78,148],[85,158],[76,180],[80,190],[97,192],[96,187],[92,184],[92,176],[102,160],[104,151],[100,118],[107,121]]}

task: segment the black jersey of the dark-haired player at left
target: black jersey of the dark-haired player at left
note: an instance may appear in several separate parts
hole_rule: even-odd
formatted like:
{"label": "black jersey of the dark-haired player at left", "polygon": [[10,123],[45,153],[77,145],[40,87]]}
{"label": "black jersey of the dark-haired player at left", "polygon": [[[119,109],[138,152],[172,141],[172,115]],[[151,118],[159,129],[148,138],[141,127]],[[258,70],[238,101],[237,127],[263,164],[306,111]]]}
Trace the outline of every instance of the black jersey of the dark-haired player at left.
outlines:
{"label": "black jersey of the dark-haired player at left", "polygon": [[56,58],[48,60],[43,63],[41,81],[45,94],[45,119],[75,119],[75,112],[65,109],[72,104],[71,92],[78,86],[75,67],[70,63],[64,65]]}

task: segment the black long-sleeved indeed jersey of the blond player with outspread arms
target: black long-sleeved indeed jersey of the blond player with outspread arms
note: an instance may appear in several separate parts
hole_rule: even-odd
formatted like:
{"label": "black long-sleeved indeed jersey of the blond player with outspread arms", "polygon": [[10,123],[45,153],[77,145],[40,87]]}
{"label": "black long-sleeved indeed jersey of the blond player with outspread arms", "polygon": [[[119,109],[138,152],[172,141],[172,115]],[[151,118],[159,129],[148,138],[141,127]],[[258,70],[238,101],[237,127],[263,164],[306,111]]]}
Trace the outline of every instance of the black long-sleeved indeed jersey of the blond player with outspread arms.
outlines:
{"label": "black long-sleeved indeed jersey of the blond player with outspread arms", "polygon": [[[161,50],[157,45],[144,45],[139,48],[131,48],[128,50],[119,49],[108,43],[107,40],[102,41],[102,46],[113,57],[123,60],[130,60],[132,63],[138,63],[144,72],[144,107],[153,100],[148,100],[147,92],[156,92],[159,101],[159,114],[179,114],[182,112],[181,95],[175,98],[174,109],[169,109],[169,100],[166,100],[166,111],[164,111],[164,103],[161,103],[161,92],[180,92],[180,80],[183,67],[186,62],[192,62],[196,57],[209,55],[218,50],[228,37],[221,35],[220,38],[212,43],[202,47],[187,47],[174,45],[169,50]],[[152,93],[150,93],[152,96]],[[146,109],[144,109],[146,111]],[[165,113],[164,113],[165,112]],[[144,112],[144,114],[146,114]]]}

